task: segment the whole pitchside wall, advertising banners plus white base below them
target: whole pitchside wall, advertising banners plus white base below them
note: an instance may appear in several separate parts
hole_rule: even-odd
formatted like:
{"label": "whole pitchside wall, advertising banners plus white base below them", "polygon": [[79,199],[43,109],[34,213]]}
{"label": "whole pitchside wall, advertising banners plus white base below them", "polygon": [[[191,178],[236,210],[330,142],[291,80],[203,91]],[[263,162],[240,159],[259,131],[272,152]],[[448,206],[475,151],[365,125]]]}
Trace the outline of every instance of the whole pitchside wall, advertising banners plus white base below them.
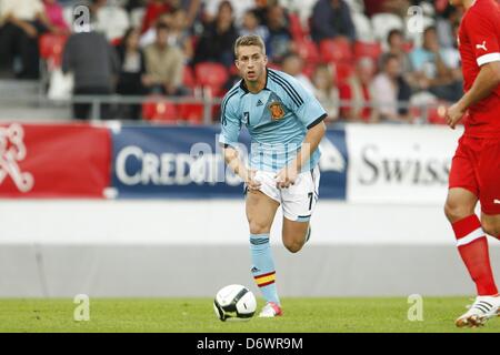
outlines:
{"label": "whole pitchside wall, advertising banners plus white base below them", "polygon": [[[223,171],[217,132],[0,125],[0,296],[213,296],[229,283],[254,290],[242,186]],[[288,253],[281,212],[272,231],[282,295],[472,294],[442,212],[460,134],[329,130],[312,240]],[[241,141],[248,148],[248,135]],[[498,242],[491,245],[500,271]]]}

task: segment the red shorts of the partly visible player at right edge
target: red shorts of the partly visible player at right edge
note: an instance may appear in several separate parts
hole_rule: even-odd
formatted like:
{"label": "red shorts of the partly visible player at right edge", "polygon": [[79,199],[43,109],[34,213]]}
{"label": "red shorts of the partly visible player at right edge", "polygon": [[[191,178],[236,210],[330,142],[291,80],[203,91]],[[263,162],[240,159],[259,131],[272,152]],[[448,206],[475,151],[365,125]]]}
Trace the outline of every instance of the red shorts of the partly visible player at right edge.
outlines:
{"label": "red shorts of the partly visible player at right edge", "polygon": [[472,192],[486,214],[500,214],[500,140],[462,136],[451,163],[452,187]]}

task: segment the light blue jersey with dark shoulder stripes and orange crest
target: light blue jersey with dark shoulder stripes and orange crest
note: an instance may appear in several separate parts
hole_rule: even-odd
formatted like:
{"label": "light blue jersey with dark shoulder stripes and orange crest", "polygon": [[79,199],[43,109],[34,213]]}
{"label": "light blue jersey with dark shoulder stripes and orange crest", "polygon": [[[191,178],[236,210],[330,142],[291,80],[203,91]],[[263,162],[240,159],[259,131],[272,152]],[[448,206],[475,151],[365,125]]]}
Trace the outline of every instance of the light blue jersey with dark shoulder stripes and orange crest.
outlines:
{"label": "light blue jersey with dark shoulder stripes and orange crest", "polygon": [[[266,88],[251,93],[244,81],[238,82],[221,105],[219,142],[234,146],[242,125],[251,136],[250,168],[277,172],[290,163],[300,149],[307,130],[320,123],[327,112],[291,75],[267,69]],[[319,161],[317,149],[302,172]]]}

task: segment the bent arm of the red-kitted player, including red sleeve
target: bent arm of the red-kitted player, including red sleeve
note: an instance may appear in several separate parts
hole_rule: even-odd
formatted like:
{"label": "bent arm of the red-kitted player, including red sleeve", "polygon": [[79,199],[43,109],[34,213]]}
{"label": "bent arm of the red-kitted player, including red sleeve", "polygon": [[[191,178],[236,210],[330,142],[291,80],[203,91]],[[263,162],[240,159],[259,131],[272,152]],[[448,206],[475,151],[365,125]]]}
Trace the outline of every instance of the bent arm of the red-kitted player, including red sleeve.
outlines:
{"label": "bent arm of the red-kitted player, including red sleeve", "polygon": [[488,98],[500,85],[500,38],[496,26],[488,19],[473,24],[471,42],[476,45],[476,59],[481,69],[471,89],[447,111],[447,123],[452,129],[471,105]]}

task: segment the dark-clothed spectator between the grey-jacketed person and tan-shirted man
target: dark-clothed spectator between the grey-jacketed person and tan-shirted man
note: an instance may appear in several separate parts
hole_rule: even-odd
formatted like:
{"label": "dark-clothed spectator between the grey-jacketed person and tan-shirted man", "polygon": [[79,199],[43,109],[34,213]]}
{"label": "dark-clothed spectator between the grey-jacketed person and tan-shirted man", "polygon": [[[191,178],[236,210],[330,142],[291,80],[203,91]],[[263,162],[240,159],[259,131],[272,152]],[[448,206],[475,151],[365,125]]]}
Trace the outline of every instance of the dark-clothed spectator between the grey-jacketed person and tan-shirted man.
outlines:
{"label": "dark-clothed spectator between the grey-jacketed person and tan-shirted man", "polygon": [[[139,29],[129,29],[117,49],[120,59],[117,93],[121,95],[143,95],[147,93],[144,87],[148,83],[146,58],[139,48]],[[140,104],[123,105],[120,109],[120,118],[124,120],[138,120],[140,118]]]}

